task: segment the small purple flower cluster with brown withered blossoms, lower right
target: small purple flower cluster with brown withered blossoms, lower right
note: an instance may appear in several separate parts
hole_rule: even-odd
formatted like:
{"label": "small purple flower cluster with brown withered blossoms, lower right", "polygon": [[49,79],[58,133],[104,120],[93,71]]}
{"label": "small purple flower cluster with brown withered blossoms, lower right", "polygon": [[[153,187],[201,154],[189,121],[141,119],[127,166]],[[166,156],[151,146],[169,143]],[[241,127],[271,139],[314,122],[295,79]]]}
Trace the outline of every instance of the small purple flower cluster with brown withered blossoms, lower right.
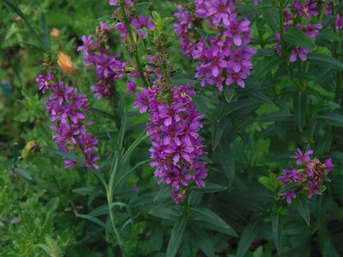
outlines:
{"label": "small purple flower cluster with brown withered blossoms, lower right", "polygon": [[281,196],[287,197],[287,203],[292,203],[292,198],[296,198],[296,191],[303,192],[308,191],[308,198],[311,198],[315,193],[321,195],[321,183],[324,180],[324,177],[328,174],[328,170],[333,170],[332,159],[331,157],[327,159],[324,163],[321,163],[317,158],[311,160],[310,155],[313,154],[313,150],[308,150],[303,154],[299,148],[298,154],[296,156],[291,156],[291,158],[297,159],[296,163],[298,165],[304,164],[304,169],[295,169],[291,167],[289,170],[283,170],[282,176],[278,177],[278,180],[282,180],[284,184],[282,187],[285,187],[290,182],[297,182],[301,185],[300,188],[286,193],[280,194]]}

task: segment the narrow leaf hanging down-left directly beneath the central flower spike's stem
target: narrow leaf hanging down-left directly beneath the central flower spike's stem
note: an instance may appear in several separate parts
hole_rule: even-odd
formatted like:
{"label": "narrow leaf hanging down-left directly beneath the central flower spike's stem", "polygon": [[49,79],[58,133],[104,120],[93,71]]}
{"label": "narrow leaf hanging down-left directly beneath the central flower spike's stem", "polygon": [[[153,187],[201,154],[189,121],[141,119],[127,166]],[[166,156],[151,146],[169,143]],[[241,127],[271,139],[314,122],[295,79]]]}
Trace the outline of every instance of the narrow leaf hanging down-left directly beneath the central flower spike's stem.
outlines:
{"label": "narrow leaf hanging down-left directly beneath the central flower spike's stem", "polygon": [[171,231],[170,240],[167,246],[166,256],[174,257],[181,245],[184,231],[186,229],[187,218],[182,217],[175,222],[173,230]]}

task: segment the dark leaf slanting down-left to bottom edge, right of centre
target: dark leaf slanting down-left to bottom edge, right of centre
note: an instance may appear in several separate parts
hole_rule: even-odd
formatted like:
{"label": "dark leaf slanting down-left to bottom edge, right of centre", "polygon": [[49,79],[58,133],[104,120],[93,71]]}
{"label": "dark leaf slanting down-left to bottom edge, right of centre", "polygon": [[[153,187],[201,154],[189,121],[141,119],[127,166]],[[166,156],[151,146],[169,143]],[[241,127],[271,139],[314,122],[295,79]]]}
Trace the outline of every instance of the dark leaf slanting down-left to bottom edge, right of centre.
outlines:
{"label": "dark leaf slanting down-left to bottom edge, right of centre", "polygon": [[259,231],[259,225],[255,222],[249,222],[245,227],[242,236],[238,242],[236,257],[243,257],[249,249],[252,242],[255,240]]}

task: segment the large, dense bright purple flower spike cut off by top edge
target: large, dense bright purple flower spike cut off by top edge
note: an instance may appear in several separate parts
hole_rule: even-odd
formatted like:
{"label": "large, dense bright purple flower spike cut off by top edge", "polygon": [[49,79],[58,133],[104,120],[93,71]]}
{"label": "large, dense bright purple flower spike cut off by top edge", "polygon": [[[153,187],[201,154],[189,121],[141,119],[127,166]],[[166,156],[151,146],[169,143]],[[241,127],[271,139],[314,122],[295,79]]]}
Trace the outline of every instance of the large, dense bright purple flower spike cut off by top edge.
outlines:
{"label": "large, dense bright purple flower spike cut off by top edge", "polygon": [[[209,29],[218,31],[218,39],[206,38],[198,42],[192,51],[193,59],[201,61],[195,77],[202,78],[202,86],[206,83],[216,84],[220,91],[223,91],[223,83],[231,85],[236,82],[245,87],[243,79],[250,75],[250,58],[256,53],[255,48],[248,47],[252,39],[250,21],[247,18],[239,21],[232,0],[196,0],[194,4],[195,16],[205,19]],[[186,33],[186,29],[190,28],[190,22],[186,19],[186,12],[180,13],[175,14],[179,23],[175,23],[174,26],[178,33],[181,28],[182,32]]]}

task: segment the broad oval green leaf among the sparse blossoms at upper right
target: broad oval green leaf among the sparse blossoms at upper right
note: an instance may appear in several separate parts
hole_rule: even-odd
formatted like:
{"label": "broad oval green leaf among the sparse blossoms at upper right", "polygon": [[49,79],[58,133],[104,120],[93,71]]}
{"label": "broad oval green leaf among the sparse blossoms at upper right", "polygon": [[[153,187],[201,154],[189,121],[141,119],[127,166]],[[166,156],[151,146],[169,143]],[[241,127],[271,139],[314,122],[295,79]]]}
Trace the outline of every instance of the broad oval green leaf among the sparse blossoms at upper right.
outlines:
{"label": "broad oval green leaf among the sparse blossoms at upper right", "polygon": [[313,40],[299,28],[289,28],[284,34],[281,35],[281,38],[288,43],[291,43],[295,46],[315,49],[316,45]]}

